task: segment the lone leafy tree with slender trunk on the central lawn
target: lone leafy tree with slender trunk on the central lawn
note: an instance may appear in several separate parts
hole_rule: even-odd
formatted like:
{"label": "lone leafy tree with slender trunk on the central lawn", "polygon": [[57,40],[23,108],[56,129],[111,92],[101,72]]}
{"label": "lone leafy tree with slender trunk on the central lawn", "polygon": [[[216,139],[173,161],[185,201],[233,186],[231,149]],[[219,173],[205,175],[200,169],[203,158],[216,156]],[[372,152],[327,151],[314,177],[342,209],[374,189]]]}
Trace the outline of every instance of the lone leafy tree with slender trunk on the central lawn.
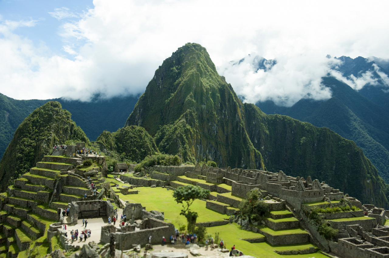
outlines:
{"label": "lone leafy tree with slender trunk on the central lawn", "polygon": [[194,232],[196,220],[198,217],[197,212],[189,210],[189,206],[192,205],[196,199],[205,199],[209,196],[209,190],[202,189],[195,185],[179,186],[177,190],[173,192],[173,197],[177,203],[182,204],[183,210],[180,215],[184,215],[188,222],[187,229],[189,232]]}

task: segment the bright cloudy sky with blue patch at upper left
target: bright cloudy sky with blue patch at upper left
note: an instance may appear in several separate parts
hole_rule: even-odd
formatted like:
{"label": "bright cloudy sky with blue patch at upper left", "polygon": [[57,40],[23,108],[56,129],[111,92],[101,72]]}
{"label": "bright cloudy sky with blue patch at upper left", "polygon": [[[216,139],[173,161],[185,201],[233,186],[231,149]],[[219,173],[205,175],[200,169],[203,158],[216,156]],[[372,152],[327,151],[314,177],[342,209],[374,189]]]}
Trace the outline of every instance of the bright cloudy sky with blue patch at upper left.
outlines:
{"label": "bright cloudy sky with blue patch at upper left", "polygon": [[[333,57],[389,59],[388,7],[355,0],[0,0],[0,93],[84,101],[142,94],[164,59],[195,42],[246,102],[328,99],[321,84],[328,73],[356,90],[371,80],[341,78]],[[261,57],[277,64],[256,71]]]}

